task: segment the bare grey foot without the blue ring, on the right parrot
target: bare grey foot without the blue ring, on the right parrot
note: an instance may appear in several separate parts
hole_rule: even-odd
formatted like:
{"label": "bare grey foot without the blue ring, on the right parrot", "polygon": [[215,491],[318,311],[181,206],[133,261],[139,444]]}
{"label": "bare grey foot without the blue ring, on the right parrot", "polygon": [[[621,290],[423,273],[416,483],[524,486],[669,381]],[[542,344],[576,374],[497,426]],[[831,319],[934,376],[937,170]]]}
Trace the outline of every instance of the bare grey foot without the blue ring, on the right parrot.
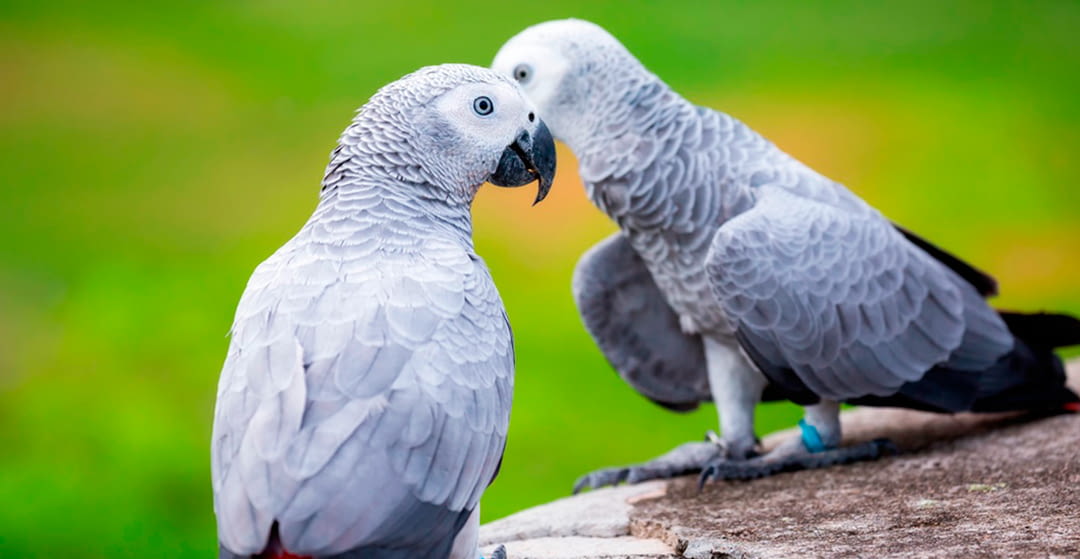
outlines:
{"label": "bare grey foot without the blue ring, on the right parrot", "polygon": [[632,466],[606,467],[578,478],[573,483],[573,494],[584,489],[599,489],[606,486],[639,483],[651,479],[669,479],[676,476],[701,472],[708,463],[725,456],[726,449],[715,434],[710,433],[705,442],[684,442],[665,454],[648,462]]}

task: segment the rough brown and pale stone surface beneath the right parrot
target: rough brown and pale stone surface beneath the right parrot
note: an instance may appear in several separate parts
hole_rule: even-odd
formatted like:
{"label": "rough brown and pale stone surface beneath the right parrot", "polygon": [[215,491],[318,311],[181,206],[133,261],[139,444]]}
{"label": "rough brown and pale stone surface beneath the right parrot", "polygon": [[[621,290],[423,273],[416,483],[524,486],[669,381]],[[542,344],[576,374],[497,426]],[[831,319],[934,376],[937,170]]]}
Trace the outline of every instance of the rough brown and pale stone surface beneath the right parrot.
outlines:
{"label": "rough brown and pale stone surface beneath the right parrot", "polygon": [[[1069,378],[1080,388],[1080,360]],[[592,491],[485,524],[481,542],[511,559],[1080,557],[1080,414],[842,421],[847,442],[887,436],[901,455],[701,492],[696,477]]]}

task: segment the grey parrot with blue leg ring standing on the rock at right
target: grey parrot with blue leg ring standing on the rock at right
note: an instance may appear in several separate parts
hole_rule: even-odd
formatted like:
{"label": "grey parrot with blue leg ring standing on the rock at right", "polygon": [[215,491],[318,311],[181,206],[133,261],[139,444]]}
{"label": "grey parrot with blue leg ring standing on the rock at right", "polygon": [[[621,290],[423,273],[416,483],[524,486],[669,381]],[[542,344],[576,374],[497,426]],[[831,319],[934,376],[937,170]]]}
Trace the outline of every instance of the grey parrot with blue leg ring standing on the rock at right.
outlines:
{"label": "grey parrot with blue leg ring standing on the rock at right", "polygon": [[[991,277],[684,99],[600,27],[530,27],[492,67],[522,84],[621,230],[573,276],[600,351],[648,398],[674,409],[712,399],[719,414],[715,442],[590,474],[576,490],[694,471],[758,477],[889,448],[837,448],[839,403],[1076,408],[1053,349],[1080,343],[1080,322],[994,311]],[[762,398],[806,406],[802,437],[765,455]]]}

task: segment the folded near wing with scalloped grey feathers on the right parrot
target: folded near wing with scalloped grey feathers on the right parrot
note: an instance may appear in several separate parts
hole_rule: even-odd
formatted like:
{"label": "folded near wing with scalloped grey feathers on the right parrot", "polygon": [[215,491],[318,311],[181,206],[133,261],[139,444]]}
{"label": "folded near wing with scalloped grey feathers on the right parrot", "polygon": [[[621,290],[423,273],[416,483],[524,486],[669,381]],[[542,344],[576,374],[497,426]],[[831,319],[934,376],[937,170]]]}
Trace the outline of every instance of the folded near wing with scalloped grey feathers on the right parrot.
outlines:
{"label": "folded near wing with scalloped grey feathers on the right parrot", "polygon": [[[719,228],[706,262],[734,328],[821,397],[893,394],[934,366],[977,371],[1011,349],[969,284],[869,209],[766,187]],[[777,321],[781,305],[815,318]]]}

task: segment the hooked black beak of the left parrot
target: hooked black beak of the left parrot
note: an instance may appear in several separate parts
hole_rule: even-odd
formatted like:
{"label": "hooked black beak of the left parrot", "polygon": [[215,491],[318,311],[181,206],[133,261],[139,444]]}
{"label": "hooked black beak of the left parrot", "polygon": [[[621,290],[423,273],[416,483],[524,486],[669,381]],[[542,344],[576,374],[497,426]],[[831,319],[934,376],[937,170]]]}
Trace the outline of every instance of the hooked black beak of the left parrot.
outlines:
{"label": "hooked black beak of the left parrot", "polygon": [[539,180],[540,189],[532,205],[548,196],[555,180],[555,140],[543,121],[537,120],[537,127],[531,134],[522,131],[517,139],[507,146],[489,180],[500,187],[524,187]]}

